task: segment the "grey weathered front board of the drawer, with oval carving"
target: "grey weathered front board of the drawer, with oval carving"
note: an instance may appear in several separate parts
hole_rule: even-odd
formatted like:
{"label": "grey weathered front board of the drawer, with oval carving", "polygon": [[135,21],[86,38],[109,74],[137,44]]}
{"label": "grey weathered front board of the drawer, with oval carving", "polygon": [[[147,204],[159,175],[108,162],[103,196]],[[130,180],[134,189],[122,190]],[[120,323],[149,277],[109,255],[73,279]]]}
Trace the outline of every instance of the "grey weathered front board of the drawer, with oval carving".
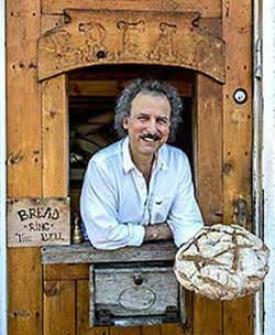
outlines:
{"label": "grey weathered front board of the drawer, with oval carving", "polygon": [[[135,283],[136,277],[141,284]],[[178,300],[172,268],[95,269],[96,309],[109,310],[114,316],[163,315],[167,306],[177,307]]]}

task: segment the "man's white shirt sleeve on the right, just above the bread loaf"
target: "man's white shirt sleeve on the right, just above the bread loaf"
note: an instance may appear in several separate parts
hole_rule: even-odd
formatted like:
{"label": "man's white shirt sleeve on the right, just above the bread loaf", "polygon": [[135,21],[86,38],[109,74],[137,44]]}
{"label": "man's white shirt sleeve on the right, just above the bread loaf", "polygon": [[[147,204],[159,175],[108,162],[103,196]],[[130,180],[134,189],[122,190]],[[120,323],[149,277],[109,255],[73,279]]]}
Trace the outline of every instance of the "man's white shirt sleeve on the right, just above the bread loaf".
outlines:
{"label": "man's white shirt sleeve on the right, just above the bread loaf", "polygon": [[167,224],[177,247],[195,236],[204,226],[199,206],[194,194],[191,171],[186,155],[182,156],[183,166],[179,173],[177,194],[168,213]]}

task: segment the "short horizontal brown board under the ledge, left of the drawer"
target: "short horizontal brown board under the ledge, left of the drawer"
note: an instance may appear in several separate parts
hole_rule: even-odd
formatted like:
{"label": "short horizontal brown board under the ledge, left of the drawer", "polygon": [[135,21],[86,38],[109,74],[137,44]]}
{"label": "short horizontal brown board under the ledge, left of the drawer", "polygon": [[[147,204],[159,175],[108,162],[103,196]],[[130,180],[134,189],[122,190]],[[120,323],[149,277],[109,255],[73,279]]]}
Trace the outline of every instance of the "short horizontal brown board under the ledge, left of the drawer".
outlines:
{"label": "short horizontal brown board under the ledge, left of the drawer", "polygon": [[44,280],[80,280],[89,279],[88,264],[51,264],[43,267]]}

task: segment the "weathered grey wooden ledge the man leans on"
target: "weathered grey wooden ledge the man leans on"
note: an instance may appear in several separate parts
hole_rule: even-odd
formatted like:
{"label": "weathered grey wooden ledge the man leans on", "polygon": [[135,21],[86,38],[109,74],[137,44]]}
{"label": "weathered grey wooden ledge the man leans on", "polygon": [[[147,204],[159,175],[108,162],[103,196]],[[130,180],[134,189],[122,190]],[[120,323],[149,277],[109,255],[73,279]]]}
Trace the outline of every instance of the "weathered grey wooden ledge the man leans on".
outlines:
{"label": "weathered grey wooden ledge the man leans on", "polygon": [[48,246],[41,249],[43,264],[121,263],[141,261],[174,261],[177,252],[172,241],[144,244],[117,250],[98,250],[89,242],[72,246]]}

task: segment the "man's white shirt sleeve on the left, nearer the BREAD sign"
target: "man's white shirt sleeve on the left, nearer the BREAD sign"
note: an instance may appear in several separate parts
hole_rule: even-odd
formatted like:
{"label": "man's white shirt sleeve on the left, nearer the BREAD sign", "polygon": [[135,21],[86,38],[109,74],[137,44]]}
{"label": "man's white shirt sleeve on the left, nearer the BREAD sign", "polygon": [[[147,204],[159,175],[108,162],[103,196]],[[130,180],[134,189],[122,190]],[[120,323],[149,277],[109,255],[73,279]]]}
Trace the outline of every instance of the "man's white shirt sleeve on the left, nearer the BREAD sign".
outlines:
{"label": "man's white shirt sleeve on the left, nearer the BREAD sign", "polygon": [[98,249],[141,246],[143,226],[118,221],[118,185],[108,166],[90,161],[80,196],[80,213],[88,238]]}

